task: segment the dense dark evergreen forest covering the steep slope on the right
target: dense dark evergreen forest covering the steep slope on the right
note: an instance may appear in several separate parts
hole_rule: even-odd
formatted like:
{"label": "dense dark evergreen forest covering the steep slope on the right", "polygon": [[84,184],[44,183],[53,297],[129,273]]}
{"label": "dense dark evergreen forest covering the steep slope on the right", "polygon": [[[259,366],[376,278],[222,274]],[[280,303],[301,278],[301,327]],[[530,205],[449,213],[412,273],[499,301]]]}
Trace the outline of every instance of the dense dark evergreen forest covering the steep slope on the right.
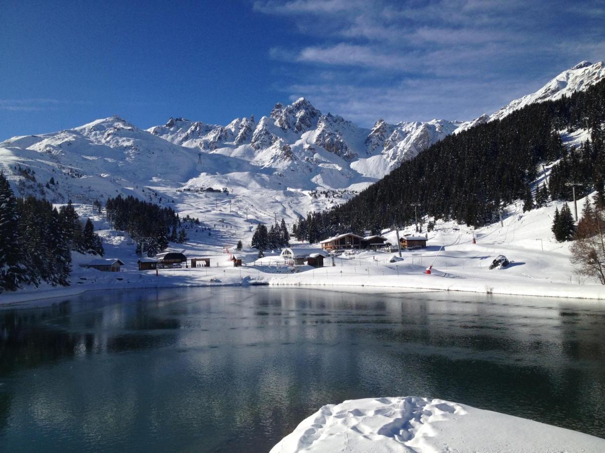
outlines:
{"label": "dense dark evergreen forest covering the steep slope on the right", "polygon": [[[570,200],[572,188],[566,182],[572,181],[587,183],[577,188],[580,193],[596,190],[603,199],[604,121],[605,80],[571,97],[530,104],[502,120],[450,135],[345,204],[309,213],[297,228],[327,237],[409,225],[413,204],[419,216],[485,225],[495,222],[506,204],[527,199],[528,193],[532,197],[531,184],[542,162],[558,161],[548,193],[537,191],[541,202],[545,196]],[[590,141],[567,149],[560,132],[577,129],[589,129]]]}

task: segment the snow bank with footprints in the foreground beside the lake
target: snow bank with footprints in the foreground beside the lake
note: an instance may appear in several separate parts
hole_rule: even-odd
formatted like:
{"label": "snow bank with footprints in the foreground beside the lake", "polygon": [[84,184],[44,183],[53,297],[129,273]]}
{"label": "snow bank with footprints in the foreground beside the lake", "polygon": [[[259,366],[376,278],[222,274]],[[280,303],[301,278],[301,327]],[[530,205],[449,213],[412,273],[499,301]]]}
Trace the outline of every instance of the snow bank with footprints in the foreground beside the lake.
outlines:
{"label": "snow bank with footprints in the foreground beside the lake", "polygon": [[440,399],[367,398],[329,404],[271,453],[602,452],[605,440]]}

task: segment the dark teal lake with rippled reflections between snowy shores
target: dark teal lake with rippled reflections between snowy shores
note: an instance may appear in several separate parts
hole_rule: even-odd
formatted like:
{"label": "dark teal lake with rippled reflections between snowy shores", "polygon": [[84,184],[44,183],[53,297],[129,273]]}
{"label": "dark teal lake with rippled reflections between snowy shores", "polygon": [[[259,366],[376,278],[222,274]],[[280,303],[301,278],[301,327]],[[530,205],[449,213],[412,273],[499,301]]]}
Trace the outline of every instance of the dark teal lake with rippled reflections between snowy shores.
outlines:
{"label": "dark teal lake with rippled reflections between snowy shores", "polygon": [[595,302],[252,286],[36,304],[0,307],[0,451],[262,452],[324,404],[408,395],[605,437]]}

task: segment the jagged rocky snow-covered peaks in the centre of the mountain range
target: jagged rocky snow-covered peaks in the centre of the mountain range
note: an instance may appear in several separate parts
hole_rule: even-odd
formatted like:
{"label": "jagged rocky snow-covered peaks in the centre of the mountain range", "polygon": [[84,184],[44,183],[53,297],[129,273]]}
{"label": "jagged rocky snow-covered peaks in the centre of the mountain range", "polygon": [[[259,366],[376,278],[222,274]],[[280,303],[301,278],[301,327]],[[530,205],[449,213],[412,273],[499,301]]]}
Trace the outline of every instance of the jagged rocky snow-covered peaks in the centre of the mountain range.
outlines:
{"label": "jagged rocky snow-covered peaks in the centre of the mountain range", "polygon": [[[324,115],[308,100],[299,98],[287,106],[275,104],[270,115],[258,122],[244,117],[220,126],[170,118],[164,126],[148,131],[174,144],[246,159],[260,167],[294,167],[312,173],[317,165],[326,168],[326,164],[333,164],[341,167],[338,179],[350,180],[356,176],[382,178],[462,124],[445,120],[387,124],[378,120],[369,130],[338,115]],[[320,186],[341,187],[341,182],[320,179],[316,181]]]}

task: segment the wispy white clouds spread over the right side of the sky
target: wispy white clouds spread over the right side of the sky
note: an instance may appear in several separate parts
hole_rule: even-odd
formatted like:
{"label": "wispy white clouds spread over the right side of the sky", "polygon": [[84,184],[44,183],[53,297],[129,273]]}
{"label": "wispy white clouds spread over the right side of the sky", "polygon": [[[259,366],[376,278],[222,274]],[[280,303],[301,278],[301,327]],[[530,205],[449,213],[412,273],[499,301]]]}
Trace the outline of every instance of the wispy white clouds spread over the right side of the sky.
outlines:
{"label": "wispy white clouds spread over the right side of the sky", "polygon": [[[603,1],[257,1],[312,39],[270,50],[292,98],[362,124],[468,120],[534,91],[580,60],[601,60]],[[592,11],[592,12],[587,12]],[[286,18],[287,17],[287,18]],[[592,19],[592,20],[591,20]],[[284,41],[287,42],[287,41]]]}

